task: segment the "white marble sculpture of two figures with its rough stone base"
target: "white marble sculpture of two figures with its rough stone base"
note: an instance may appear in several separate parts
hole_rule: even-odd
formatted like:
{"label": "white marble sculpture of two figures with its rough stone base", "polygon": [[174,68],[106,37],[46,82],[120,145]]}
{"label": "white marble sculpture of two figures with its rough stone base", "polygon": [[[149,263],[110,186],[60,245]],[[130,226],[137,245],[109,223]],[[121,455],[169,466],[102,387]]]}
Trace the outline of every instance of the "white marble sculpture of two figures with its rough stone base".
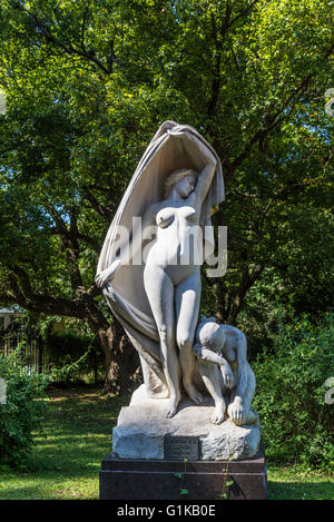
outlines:
{"label": "white marble sculpture of two figures with its rough stone base", "polygon": [[144,385],[112,430],[117,459],[166,459],[165,439],[195,437],[200,460],[259,447],[245,335],[199,315],[200,266],[224,200],[219,158],[193,128],[165,121],[120,201],[96,284],[139,353]]}

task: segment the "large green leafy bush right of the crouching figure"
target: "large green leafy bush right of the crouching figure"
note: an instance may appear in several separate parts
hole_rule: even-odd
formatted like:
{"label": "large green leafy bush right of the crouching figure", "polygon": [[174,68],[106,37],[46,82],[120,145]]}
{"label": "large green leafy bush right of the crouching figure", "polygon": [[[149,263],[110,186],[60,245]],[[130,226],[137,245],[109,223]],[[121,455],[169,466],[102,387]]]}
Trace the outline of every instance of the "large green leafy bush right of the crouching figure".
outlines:
{"label": "large green leafy bush right of the crouching figure", "polygon": [[305,316],[282,323],[253,363],[254,407],[258,411],[269,459],[334,469],[333,405],[325,402],[325,382],[334,376],[334,316],[314,326]]}

